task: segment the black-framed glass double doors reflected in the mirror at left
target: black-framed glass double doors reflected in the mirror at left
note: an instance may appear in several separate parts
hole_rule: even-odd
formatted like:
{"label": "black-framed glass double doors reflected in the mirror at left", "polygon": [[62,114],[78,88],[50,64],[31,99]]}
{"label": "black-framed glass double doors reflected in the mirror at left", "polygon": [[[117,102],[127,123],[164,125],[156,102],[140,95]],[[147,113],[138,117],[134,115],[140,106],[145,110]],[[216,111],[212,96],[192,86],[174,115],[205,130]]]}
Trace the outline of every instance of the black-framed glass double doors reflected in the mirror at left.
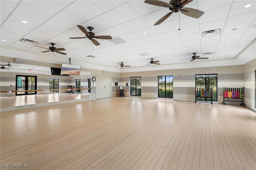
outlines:
{"label": "black-framed glass double doors reflected in the mirror at left", "polygon": [[36,94],[37,77],[28,75],[16,75],[16,95]]}

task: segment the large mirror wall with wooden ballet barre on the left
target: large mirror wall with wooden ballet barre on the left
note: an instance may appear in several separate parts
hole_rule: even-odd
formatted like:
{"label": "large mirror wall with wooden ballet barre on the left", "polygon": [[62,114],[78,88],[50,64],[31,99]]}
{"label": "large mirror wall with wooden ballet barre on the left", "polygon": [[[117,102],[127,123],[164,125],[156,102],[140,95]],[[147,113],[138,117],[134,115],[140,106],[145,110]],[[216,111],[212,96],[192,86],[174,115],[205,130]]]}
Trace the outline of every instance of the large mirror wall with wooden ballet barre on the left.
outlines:
{"label": "large mirror wall with wooden ballet barre on the left", "polygon": [[52,75],[50,67],[10,63],[0,69],[0,108],[90,99],[90,79],[83,68],[63,76]]}

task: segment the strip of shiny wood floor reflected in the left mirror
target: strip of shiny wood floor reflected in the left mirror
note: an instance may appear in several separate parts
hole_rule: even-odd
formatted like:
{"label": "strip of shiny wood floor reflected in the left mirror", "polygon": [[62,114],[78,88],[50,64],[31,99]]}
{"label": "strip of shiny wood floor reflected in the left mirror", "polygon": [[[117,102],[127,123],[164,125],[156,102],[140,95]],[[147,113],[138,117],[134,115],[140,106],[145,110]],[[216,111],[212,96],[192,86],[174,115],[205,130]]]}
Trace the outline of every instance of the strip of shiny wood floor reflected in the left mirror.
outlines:
{"label": "strip of shiny wood floor reflected in the left mirror", "polygon": [[0,108],[90,98],[90,93],[52,93],[0,97]]}

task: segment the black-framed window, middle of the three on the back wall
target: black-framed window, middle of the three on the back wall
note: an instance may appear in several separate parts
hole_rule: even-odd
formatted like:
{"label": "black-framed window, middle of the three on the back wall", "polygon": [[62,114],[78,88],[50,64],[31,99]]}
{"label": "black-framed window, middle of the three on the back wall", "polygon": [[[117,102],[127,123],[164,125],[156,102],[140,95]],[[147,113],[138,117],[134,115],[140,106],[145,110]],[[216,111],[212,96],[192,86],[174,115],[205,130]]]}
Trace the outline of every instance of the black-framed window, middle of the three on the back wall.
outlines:
{"label": "black-framed window, middle of the three on the back wall", "polygon": [[173,98],[173,76],[158,76],[158,97]]}

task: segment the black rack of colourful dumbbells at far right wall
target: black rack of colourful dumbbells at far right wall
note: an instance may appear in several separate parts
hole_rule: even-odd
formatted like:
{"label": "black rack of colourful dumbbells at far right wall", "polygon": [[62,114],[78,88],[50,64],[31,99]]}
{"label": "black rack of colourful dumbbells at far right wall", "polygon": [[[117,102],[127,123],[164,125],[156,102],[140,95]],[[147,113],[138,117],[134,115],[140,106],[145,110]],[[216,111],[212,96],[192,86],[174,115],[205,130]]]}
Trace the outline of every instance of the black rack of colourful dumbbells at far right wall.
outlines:
{"label": "black rack of colourful dumbbells at far right wall", "polygon": [[244,87],[231,88],[223,87],[223,105],[226,105],[225,101],[240,102],[240,106],[245,107],[244,103]]}

